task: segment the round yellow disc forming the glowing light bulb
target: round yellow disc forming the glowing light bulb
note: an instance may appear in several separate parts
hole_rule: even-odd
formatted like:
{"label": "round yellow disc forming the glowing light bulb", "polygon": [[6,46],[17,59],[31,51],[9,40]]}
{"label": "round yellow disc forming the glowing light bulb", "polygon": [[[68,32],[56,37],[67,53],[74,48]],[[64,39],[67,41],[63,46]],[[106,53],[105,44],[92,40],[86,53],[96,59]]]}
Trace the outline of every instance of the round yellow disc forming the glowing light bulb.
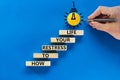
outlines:
{"label": "round yellow disc forming the glowing light bulb", "polygon": [[67,16],[67,22],[71,26],[77,26],[80,23],[80,15],[76,12],[72,12]]}

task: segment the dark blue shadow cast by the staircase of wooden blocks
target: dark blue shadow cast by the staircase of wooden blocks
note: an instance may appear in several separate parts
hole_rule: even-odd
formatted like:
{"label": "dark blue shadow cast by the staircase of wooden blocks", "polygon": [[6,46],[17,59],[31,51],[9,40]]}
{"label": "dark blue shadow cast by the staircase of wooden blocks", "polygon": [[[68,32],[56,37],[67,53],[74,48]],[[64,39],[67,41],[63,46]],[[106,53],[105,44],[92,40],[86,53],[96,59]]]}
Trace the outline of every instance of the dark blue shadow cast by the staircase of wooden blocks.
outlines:
{"label": "dark blue shadow cast by the staircase of wooden blocks", "polygon": [[[66,37],[66,36],[61,36],[61,37]],[[68,37],[68,36],[67,36]],[[69,36],[71,37],[71,36]],[[74,36],[72,36],[74,37]],[[76,36],[76,43],[75,44],[79,44],[82,41],[82,36]],[[51,67],[27,67],[26,72],[27,73],[36,73],[36,74],[47,74],[50,72],[50,68],[52,68],[52,66],[57,65],[58,61],[60,59],[65,58],[72,49],[74,49],[75,44],[51,44],[51,45],[67,45],[67,51],[62,51],[62,52],[58,52],[59,54],[59,58],[58,59],[34,59],[35,61],[51,61]],[[57,51],[47,51],[48,53],[54,53]]]}

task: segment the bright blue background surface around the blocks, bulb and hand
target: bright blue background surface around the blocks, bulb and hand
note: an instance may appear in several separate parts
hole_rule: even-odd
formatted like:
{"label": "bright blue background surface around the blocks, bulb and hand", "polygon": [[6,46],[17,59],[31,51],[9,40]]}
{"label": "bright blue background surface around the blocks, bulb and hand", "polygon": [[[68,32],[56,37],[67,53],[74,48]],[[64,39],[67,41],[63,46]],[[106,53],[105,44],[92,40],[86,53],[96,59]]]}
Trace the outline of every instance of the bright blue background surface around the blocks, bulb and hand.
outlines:
{"label": "bright blue background surface around the blocks, bulb and hand", "polygon": [[[119,0],[75,0],[87,19],[99,5]],[[27,68],[33,52],[42,52],[50,37],[65,26],[72,0],[0,0],[0,80],[120,80],[120,41],[82,23],[83,37],[60,52],[51,67]]]}

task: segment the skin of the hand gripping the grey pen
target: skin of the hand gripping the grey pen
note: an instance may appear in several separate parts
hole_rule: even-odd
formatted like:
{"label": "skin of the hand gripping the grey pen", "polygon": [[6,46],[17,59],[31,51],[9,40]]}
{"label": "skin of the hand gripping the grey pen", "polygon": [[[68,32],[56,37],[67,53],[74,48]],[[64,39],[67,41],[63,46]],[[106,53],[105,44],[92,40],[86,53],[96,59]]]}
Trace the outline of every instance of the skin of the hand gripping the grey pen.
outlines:
{"label": "skin of the hand gripping the grey pen", "polygon": [[92,20],[99,15],[107,15],[109,18],[115,18],[116,22],[90,22],[89,24],[97,30],[104,31],[112,35],[114,38],[120,40],[120,6],[105,7],[99,6],[95,12],[93,12],[88,19]]}

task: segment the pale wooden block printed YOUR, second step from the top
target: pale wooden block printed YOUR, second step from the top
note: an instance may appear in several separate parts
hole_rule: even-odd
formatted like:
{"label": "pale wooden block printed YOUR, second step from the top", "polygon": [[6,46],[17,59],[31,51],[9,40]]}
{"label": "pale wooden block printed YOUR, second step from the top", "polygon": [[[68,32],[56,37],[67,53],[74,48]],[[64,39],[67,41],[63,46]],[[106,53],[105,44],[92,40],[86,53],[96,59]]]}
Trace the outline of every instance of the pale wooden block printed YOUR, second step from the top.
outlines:
{"label": "pale wooden block printed YOUR, second step from the top", "polygon": [[75,38],[72,37],[51,38],[51,43],[75,43]]}

